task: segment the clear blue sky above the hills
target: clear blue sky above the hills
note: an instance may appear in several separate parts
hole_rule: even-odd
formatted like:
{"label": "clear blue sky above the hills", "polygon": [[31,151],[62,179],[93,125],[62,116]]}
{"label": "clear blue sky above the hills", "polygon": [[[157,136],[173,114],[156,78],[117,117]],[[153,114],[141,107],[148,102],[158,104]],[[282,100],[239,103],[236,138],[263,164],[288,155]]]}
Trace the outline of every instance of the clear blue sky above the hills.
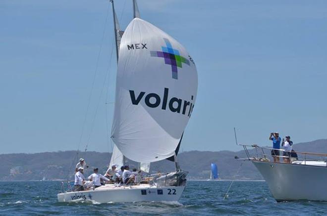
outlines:
{"label": "clear blue sky above the hills", "polygon": [[[327,1],[138,0],[183,44],[198,95],[182,151],[327,138]],[[132,1],[115,0],[121,28]],[[116,59],[108,0],[0,0],[0,154],[111,152]],[[107,103],[107,104],[106,104]],[[107,115],[107,118],[106,118]]]}

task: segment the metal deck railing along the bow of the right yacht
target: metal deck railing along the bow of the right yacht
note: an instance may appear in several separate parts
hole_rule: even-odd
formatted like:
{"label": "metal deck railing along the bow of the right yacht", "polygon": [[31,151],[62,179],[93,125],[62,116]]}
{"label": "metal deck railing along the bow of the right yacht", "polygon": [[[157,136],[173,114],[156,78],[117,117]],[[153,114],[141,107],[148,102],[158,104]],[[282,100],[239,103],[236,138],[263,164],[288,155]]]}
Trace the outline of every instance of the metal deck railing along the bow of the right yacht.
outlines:
{"label": "metal deck railing along the bow of the right yacht", "polygon": [[[313,152],[298,152],[298,151],[286,151],[285,149],[274,149],[269,147],[261,147],[257,144],[245,145],[243,146],[245,154],[248,160],[256,161],[271,161],[273,157],[278,158],[278,163],[293,163],[293,164],[302,164],[302,165],[312,165],[309,162],[322,162],[325,164],[314,165],[314,166],[327,166],[327,154],[322,153],[313,153]],[[250,151],[248,148],[252,148],[254,151]],[[278,151],[279,155],[272,155],[272,151]],[[288,155],[284,156],[284,152],[288,152]],[[282,160],[280,160],[282,159]],[[285,162],[283,159],[289,159],[288,162]],[[273,161],[273,160],[272,160]],[[309,163],[309,164],[308,164]]]}

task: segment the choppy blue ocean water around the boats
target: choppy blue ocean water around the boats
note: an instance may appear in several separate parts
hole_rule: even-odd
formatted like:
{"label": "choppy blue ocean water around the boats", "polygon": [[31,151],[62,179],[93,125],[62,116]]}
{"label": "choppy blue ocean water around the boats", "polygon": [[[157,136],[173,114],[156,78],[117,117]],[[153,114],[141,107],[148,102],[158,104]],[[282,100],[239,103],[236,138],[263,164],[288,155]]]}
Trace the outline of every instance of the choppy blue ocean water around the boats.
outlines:
{"label": "choppy blue ocean water around the boats", "polygon": [[179,202],[58,203],[56,181],[0,182],[0,215],[327,215],[327,202],[276,203],[266,182],[188,181]]}

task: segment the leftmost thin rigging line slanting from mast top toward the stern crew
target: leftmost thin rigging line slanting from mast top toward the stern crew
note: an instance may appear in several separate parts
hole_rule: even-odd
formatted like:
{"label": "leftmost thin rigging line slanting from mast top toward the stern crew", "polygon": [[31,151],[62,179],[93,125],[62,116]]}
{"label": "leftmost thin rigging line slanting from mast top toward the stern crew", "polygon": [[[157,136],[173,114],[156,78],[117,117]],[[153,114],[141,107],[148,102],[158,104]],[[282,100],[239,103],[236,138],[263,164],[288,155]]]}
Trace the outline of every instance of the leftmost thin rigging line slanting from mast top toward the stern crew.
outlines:
{"label": "leftmost thin rigging line slanting from mast top toward the stern crew", "polygon": [[103,45],[104,38],[105,38],[106,26],[107,26],[108,15],[109,15],[109,9],[110,9],[110,5],[108,4],[107,15],[106,15],[106,20],[105,20],[105,26],[104,26],[104,30],[103,30],[103,33],[102,33],[100,49],[99,49],[99,53],[98,53],[98,57],[97,57],[97,61],[96,61],[96,68],[95,68],[95,71],[94,71],[91,91],[90,91],[90,95],[89,95],[89,98],[88,98],[88,104],[87,104],[86,113],[85,113],[85,116],[84,116],[82,132],[81,132],[81,135],[80,135],[80,138],[79,138],[77,151],[79,151],[79,147],[80,147],[80,144],[82,142],[82,137],[83,137],[83,133],[84,133],[85,125],[86,125],[87,114],[89,112],[89,108],[90,108],[90,104],[91,104],[91,98],[92,98],[92,93],[93,93],[93,89],[94,89],[94,83],[95,83],[95,79],[97,77],[97,71],[98,71],[98,67],[99,67],[100,55],[101,55],[101,52],[102,52],[102,45]]}

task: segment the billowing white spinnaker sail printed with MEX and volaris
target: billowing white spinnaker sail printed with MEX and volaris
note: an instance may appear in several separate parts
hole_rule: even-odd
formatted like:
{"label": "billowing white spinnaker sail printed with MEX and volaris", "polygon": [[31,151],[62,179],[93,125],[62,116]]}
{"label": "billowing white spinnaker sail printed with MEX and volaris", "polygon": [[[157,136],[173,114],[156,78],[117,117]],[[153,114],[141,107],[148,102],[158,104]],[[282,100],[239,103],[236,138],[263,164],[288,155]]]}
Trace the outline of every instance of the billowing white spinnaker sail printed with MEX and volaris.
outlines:
{"label": "billowing white spinnaker sail printed with MEX and volaris", "polygon": [[196,100],[198,77],[186,49],[134,18],[122,36],[111,138],[130,160],[174,155]]}

